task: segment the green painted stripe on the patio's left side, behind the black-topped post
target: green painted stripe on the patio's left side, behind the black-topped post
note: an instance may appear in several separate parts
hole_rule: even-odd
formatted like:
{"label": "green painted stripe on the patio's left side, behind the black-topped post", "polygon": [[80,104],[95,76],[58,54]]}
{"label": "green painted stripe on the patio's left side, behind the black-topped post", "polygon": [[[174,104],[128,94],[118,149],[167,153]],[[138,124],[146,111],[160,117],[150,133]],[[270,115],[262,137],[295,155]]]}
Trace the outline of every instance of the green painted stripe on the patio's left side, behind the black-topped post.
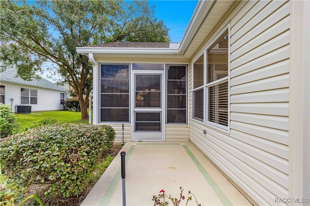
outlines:
{"label": "green painted stripe on the patio's left side, behind the black-topped post", "polygon": [[[126,156],[125,156],[125,165],[127,164],[135,146],[136,146],[136,144],[132,144],[131,147],[128,149]],[[117,184],[121,178],[121,170],[122,170],[122,168],[121,168],[121,166],[119,166],[119,168],[118,168],[116,174],[114,175],[114,178],[112,179],[107,191],[103,195],[103,197],[99,203],[99,206],[108,206],[109,205],[109,202],[111,201],[111,198],[112,198],[114,191],[116,189],[116,186],[117,186]]]}

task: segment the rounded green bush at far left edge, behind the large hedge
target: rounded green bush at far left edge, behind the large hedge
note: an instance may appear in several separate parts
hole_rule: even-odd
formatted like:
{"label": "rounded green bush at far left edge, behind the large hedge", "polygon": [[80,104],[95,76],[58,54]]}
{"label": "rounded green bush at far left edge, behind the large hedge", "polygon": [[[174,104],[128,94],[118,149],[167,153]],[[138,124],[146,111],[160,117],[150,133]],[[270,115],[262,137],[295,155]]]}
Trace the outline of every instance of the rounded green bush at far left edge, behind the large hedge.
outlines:
{"label": "rounded green bush at far left edge, behind the large hedge", "polygon": [[13,134],[17,128],[16,116],[12,113],[11,106],[0,104],[0,137]]}

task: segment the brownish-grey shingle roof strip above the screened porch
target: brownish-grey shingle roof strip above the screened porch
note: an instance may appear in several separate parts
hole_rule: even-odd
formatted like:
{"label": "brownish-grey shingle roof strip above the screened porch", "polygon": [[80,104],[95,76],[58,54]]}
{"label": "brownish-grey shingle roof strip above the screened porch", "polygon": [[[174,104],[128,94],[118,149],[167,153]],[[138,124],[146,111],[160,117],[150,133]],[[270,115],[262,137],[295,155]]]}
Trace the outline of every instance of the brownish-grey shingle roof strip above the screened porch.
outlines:
{"label": "brownish-grey shingle roof strip above the screened porch", "polygon": [[167,42],[111,42],[90,47],[109,47],[109,48],[169,48]]}

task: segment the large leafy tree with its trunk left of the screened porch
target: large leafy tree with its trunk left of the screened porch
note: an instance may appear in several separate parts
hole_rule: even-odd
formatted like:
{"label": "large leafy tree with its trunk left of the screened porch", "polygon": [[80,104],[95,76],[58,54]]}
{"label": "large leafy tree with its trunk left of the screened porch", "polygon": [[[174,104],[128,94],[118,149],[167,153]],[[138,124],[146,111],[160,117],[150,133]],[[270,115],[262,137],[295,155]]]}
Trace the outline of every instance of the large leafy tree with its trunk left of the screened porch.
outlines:
{"label": "large leafy tree with its trunk left of the screened porch", "polygon": [[[82,118],[93,67],[76,47],[110,42],[169,42],[169,29],[148,1],[0,1],[1,70],[13,65],[24,80],[46,69],[78,94]],[[50,62],[52,66],[46,66]]]}

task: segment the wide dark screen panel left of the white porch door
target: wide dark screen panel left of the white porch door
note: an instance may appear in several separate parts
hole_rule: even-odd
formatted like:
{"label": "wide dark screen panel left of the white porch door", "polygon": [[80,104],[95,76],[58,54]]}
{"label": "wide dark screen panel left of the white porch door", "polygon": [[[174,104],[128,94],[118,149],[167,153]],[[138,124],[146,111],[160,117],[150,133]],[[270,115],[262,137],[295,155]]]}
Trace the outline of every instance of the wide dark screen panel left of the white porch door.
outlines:
{"label": "wide dark screen panel left of the white porch door", "polygon": [[102,64],[100,121],[129,122],[129,64]]}

